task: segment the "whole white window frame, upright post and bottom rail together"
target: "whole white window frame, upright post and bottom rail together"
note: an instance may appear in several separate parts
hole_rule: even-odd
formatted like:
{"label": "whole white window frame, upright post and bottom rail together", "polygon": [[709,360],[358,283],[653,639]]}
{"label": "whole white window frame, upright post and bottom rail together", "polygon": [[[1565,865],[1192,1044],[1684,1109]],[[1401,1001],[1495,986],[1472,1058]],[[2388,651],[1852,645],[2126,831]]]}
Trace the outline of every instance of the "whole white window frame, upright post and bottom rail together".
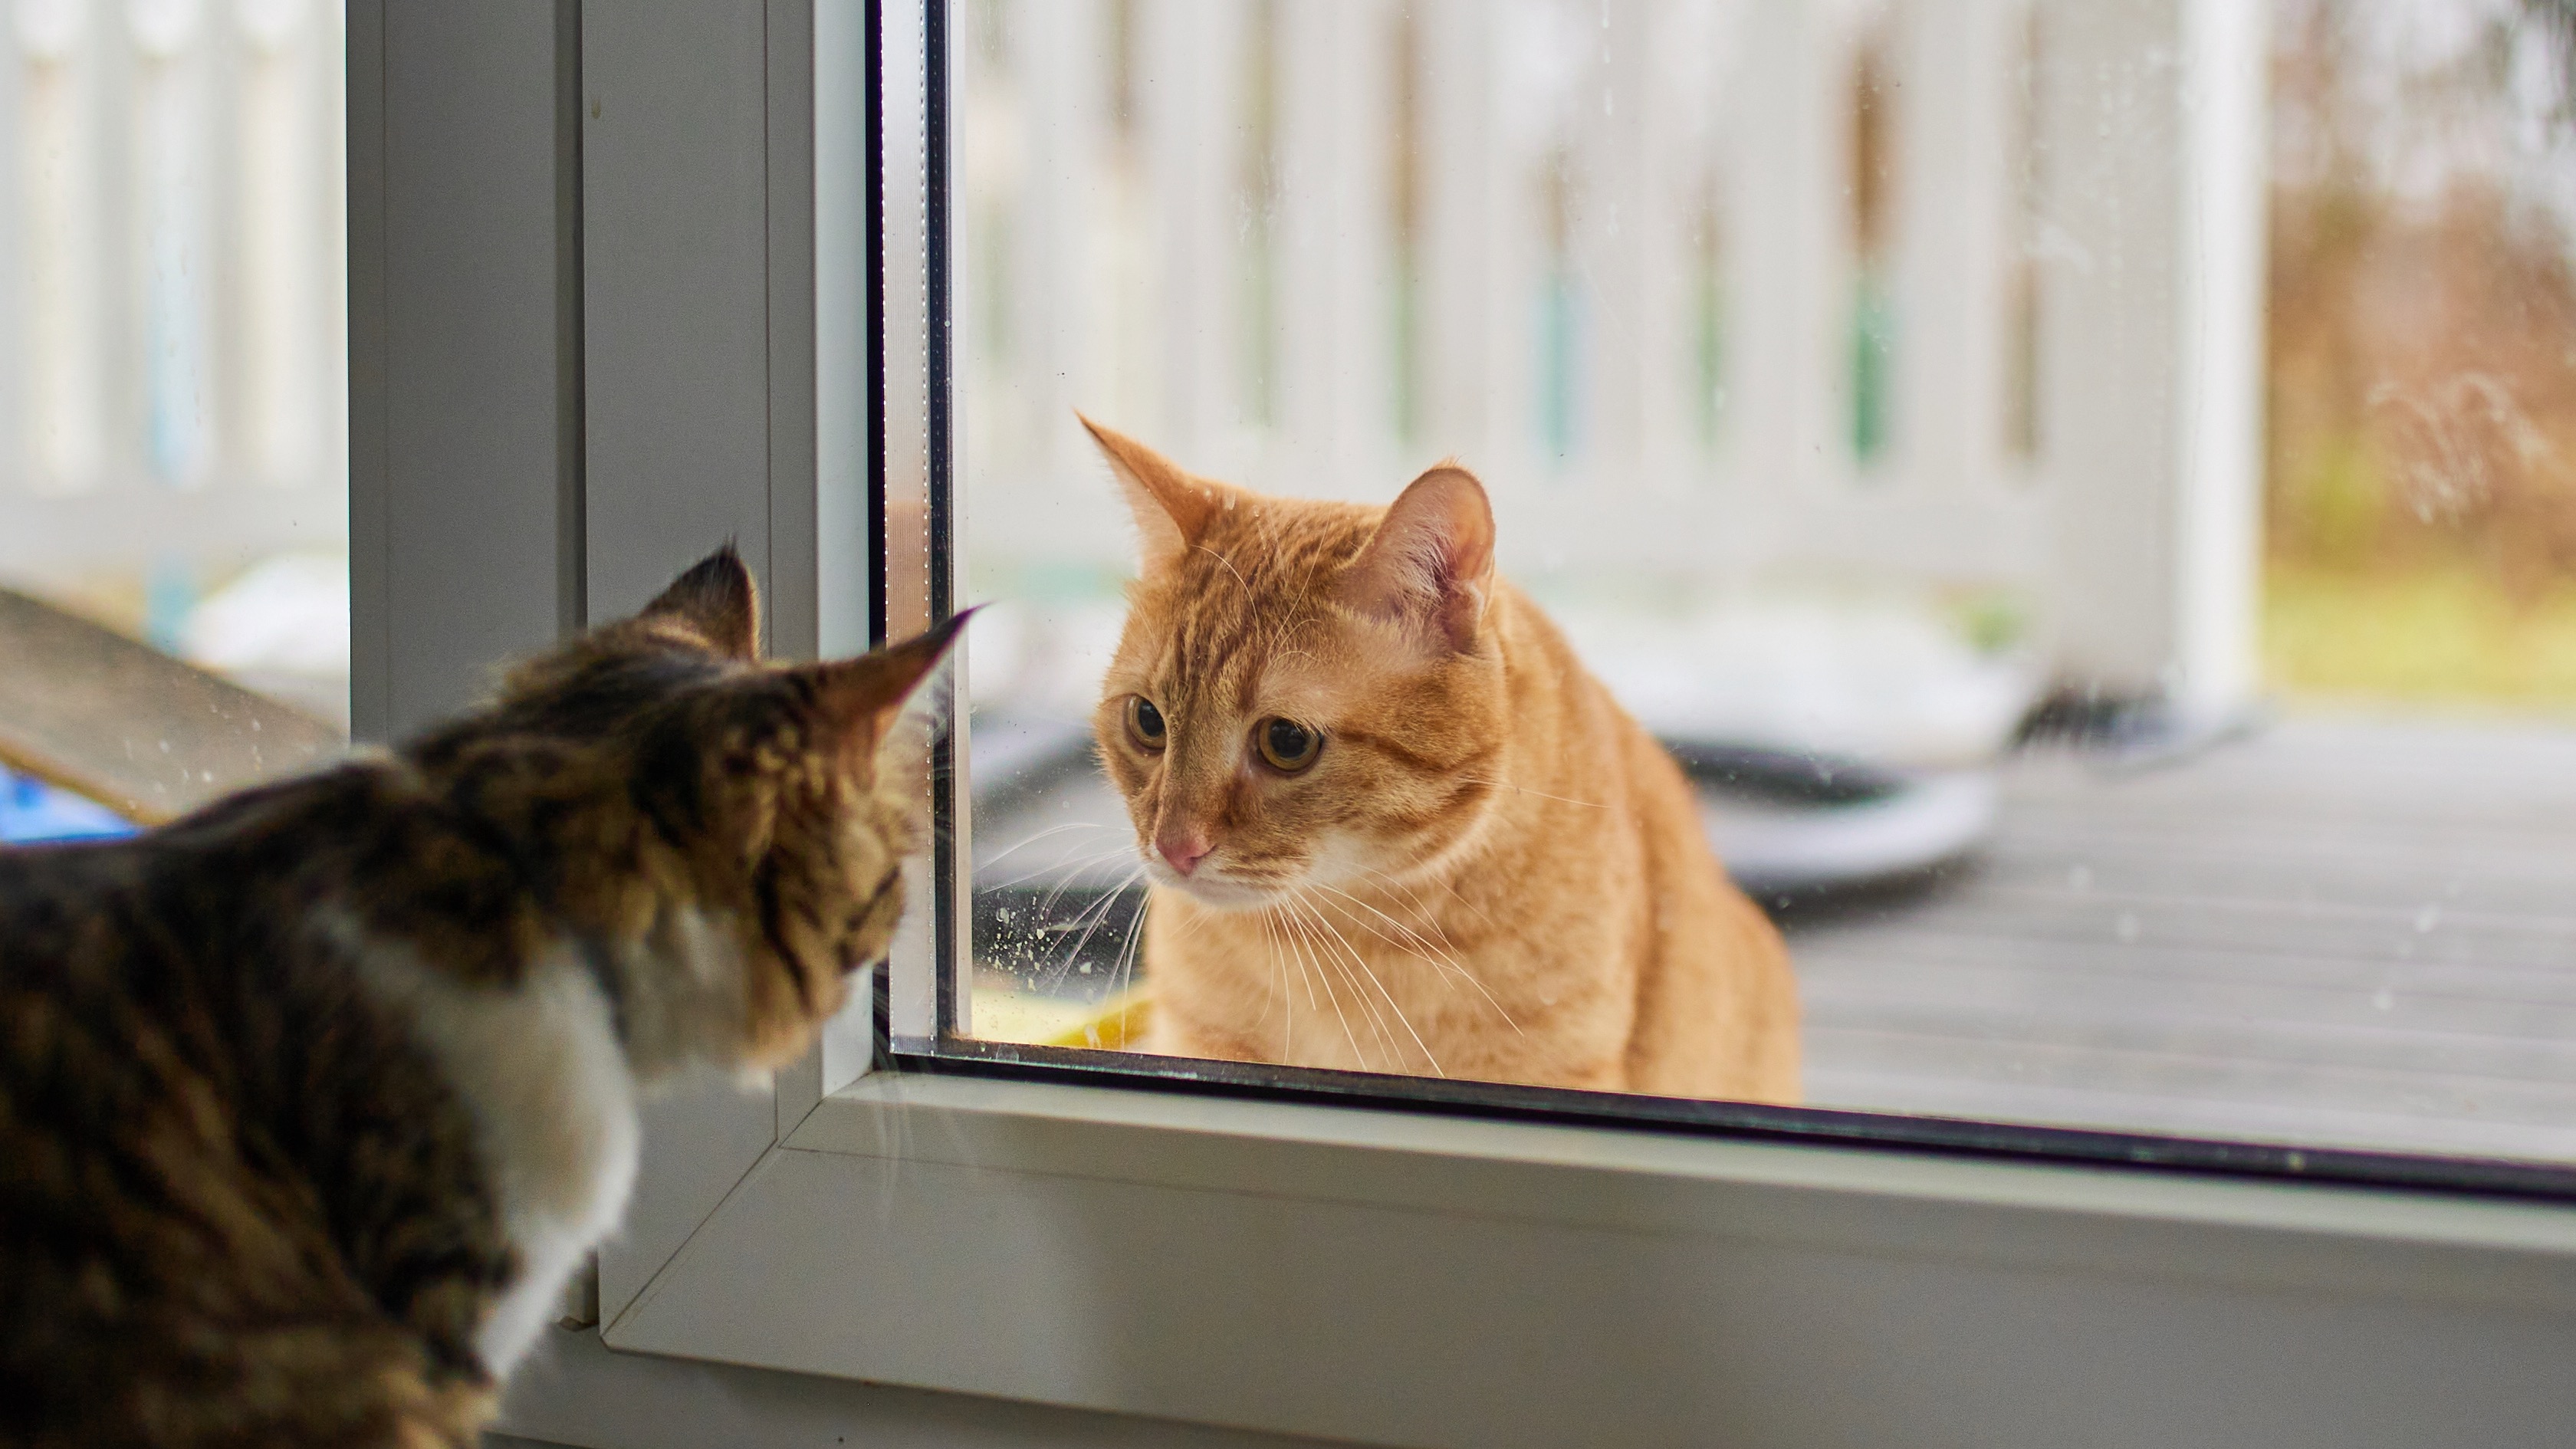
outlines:
{"label": "whole white window frame, upright post and bottom rail together", "polygon": [[[361,735],[724,536],[775,652],[855,647],[858,201],[848,98],[817,121],[814,77],[876,8],[350,0]],[[920,44],[920,5],[884,13],[889,52]],[[896,544],[933,456],[902,80]],[[907,634],[925,578],[894,575]],[[1365,1444],[2576,1434],[2566,1204],[868,1073],[866,1021],[770,1093],[657,1104],[598,1310],[636,1356]]]}

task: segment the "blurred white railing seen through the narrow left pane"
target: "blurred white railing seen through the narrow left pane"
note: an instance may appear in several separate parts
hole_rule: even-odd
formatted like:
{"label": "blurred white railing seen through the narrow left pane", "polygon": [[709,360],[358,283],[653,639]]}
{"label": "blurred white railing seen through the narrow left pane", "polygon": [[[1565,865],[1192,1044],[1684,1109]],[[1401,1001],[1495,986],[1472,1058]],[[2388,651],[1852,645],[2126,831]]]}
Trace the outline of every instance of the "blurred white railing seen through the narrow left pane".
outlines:
{"label": "blurred white railing seen through the narrow left pane", "polygon": [[0,575],[343,549],[340,5],[8,10]]}

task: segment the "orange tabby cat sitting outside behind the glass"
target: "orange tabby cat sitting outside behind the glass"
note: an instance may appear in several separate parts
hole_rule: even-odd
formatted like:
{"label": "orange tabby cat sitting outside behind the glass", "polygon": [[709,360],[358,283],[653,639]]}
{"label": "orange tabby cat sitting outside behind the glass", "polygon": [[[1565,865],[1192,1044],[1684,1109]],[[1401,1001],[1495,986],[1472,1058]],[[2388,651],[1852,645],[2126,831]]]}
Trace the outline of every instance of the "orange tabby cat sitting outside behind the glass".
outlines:
{"label": "orange tabby cat sitting outside behind the glass", "polygon": [[1466,469],[1311,503],[1084,425],[1144,534],[1095,732],[1151,879],[1146,1049],[1798,1098],[1780,933],[1494,575]]}

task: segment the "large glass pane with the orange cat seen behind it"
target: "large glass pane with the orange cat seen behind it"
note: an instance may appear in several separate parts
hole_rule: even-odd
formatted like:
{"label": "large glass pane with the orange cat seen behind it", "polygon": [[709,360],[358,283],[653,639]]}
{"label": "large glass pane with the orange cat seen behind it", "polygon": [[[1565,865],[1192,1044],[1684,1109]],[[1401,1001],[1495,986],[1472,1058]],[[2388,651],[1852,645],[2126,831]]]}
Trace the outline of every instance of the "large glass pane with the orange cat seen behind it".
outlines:
{"label": "large glass pane with the orange cat seen behind it", "polygon": [[2568,31],[2264,10],[956,5],[958,1047],[2576,1158]]}

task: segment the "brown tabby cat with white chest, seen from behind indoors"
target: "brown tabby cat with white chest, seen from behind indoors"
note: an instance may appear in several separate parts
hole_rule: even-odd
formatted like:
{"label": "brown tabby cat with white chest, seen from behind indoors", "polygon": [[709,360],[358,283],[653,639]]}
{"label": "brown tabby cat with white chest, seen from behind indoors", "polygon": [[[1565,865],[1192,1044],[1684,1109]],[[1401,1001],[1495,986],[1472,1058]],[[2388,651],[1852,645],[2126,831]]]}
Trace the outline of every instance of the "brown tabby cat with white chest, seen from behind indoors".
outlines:
{"label": "brown tabby cat with white chest, seen from behind indoors", "polygon": [[471,1444],[636,1093],[884,954],[953,629],[760,663],[724,549],[397,753],[0,851],[0,1441]]}

